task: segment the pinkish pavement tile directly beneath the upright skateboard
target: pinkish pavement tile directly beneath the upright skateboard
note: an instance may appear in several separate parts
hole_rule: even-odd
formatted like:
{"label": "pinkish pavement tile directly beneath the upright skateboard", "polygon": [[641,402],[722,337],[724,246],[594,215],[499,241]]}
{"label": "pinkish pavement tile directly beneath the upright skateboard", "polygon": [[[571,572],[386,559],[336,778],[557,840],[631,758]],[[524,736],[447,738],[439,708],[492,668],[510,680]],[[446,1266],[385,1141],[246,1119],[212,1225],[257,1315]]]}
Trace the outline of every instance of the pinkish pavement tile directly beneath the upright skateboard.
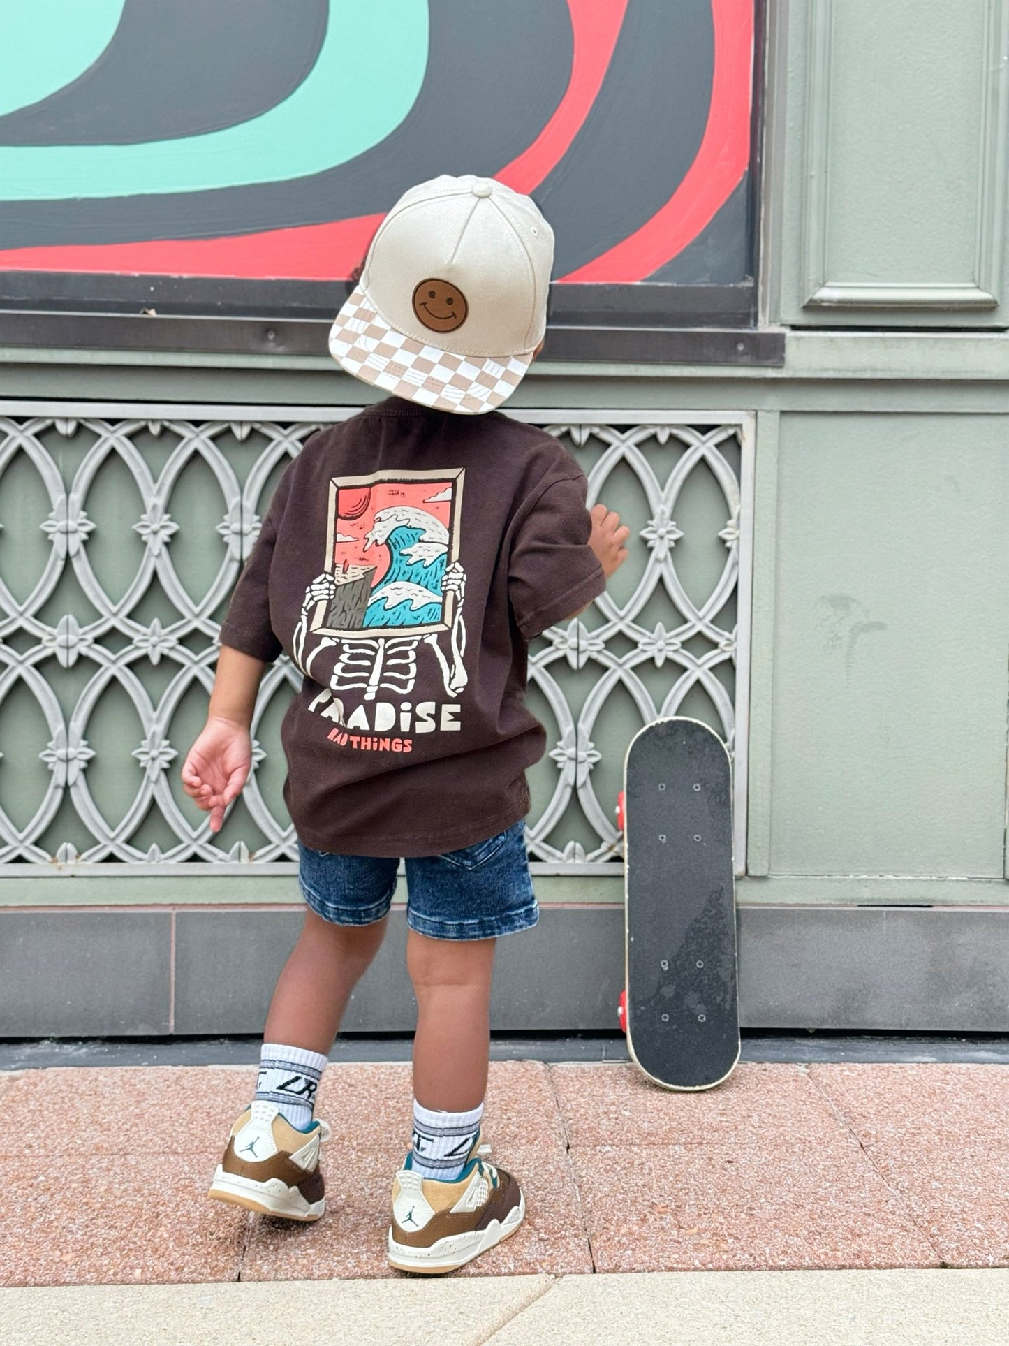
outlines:
{"label": "pinkish pavement tile directly beneath the upright skateboard", "polygon": [[675,1093],[630,1065],[550,1070],[572,1145],[764,1144],[768,1136],[825,1140],[844,1132],[799,1066],[743,1062],[724,1085]]}

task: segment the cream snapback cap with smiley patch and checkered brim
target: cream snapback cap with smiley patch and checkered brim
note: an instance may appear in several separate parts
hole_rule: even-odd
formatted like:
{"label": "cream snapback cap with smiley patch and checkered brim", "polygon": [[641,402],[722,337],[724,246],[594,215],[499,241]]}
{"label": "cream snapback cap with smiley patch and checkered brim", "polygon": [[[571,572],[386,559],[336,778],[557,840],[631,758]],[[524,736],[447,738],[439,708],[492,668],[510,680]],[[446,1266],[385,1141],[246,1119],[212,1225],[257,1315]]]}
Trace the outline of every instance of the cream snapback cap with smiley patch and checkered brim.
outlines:
{"label": "cream snapback cap with smiley patch and checkered brim", "polygon": [[552,265],[553,230],[529,197],[494,178],[422,182],[379,225],[330,354],[424,406],[494,411],[546,331]]}

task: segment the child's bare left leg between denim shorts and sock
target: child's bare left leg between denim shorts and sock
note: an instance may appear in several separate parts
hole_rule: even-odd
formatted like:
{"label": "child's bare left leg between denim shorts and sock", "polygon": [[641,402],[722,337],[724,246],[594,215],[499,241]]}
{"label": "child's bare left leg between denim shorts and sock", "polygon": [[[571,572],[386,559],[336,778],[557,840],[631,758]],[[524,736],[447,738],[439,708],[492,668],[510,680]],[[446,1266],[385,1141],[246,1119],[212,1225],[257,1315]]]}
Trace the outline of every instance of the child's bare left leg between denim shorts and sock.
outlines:
{"label": "child's bare left leg between denim shorts and sock", "polygon": [[309,907],[273,992],[264,1039],[327,1055],[350,993],[378,953],[387,921],[334,925]]}

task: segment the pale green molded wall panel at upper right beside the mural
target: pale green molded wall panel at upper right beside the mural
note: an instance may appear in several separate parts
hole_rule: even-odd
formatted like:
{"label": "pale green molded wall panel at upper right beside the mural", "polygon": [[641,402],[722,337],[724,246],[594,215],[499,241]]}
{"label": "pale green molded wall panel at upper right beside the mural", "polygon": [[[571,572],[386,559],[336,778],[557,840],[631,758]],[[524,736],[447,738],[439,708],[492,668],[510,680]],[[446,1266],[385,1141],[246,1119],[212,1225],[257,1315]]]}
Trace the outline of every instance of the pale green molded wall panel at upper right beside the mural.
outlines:
{"label": "pale green molded wall panel at upper right beside the mural", "polygon": [[782,319],[1005,326],[1006,0],[791,5]]}

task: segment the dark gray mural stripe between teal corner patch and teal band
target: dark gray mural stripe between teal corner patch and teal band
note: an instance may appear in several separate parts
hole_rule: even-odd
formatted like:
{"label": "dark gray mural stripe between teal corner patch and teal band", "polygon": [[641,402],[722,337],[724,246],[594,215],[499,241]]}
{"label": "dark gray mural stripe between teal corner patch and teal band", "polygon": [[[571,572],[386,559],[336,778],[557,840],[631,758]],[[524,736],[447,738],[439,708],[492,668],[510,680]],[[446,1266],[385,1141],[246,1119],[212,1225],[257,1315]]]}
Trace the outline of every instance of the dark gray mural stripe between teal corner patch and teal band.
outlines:
{"label": "dark gray mural stripe between teal corner patch and teal band", "polygon": [[258,117],[312,69],[327,15],[327,0],[126,0],[94,65],[0,117],[0,144],[143,144]]}

